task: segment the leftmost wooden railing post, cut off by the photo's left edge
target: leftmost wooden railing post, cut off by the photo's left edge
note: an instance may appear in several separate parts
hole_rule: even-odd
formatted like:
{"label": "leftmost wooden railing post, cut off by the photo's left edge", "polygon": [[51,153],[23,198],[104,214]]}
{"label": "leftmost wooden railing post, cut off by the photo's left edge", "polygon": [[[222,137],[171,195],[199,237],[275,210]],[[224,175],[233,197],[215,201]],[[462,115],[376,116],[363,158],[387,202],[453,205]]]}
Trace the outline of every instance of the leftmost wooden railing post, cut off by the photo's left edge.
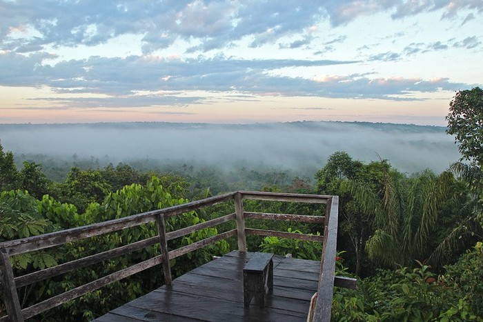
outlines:
{"label": "leftmost wooden railing post, cut off by the photo's left edge", "polygon": [[12,264],[10,264],[10,256],[8,256],[4,248],[0,250],[0,275],[8,319],[12,322],[23,322],[19,294],[15,286]]}

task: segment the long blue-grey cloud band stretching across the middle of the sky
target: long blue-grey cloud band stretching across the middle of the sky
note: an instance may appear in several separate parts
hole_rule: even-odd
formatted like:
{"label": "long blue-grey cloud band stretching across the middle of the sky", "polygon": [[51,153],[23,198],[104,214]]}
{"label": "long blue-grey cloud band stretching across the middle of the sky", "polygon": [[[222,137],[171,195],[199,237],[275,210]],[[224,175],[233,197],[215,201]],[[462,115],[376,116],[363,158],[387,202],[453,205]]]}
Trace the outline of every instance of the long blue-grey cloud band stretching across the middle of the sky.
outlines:
{"label": "long blue-grey cloud band stretching across the middle of the sky", "polygon": [[[8,59],[0,59],[0,63],[4,64],[0,66],[0,81],[8,80],[5,81],[8,85],[46,86],[58,93],[91,93],[108,97],[62,98],[61,101],[66,106],[183,105],[197,103],[202,99],[196,95],[181,99],[179,95],[170,92],[197,90],[248,94],[255,97],[279,95],[400,100],[405,99],[404,95],[410,92],[438,92],[468,87],[466,84],[452,83],[449,79],[425,81],[420,78],[402,77],[370,78],[370,74],[307,79],[267,72],[280,68],[348,65],[355,61],[248,61],[226,57],[181,60],[130,56],[125,59],[90,57],[84,60],[62,61],[55,66],[43,66],[40,61],[46,54],[30,54],[25,57],[10,52],[6,56]],[[391,61],[397,59],[397,54],[387,52],[373,59]],[[157,94],[159,91],[161,94]]]}

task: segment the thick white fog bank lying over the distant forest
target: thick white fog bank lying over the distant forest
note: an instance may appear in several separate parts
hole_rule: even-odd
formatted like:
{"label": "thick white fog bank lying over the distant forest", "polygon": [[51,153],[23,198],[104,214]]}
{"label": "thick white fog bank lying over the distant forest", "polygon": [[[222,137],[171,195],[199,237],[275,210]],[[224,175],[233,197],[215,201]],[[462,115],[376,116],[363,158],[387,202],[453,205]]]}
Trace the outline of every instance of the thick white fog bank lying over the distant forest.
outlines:
{"label": "thick white fog bank lying over the distant forest", "polygon": [[205,123],[95,123],[0,125],[4,151],[59,159],[139,159],[270,167],[313,177],[330,154],[361,161],[387,159],[411,174],[441,172],[460,159],[453,137],[435,126],[388,123],[292,122],[248,125]]}

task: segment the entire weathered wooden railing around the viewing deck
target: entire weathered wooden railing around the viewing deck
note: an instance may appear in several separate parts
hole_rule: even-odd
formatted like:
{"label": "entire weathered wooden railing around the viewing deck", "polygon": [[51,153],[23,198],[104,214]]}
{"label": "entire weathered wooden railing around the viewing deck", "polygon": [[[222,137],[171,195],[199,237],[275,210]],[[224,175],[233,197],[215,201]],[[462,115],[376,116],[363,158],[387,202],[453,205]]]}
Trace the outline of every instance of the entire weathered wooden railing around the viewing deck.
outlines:
{"label": "entire weathered wooden railing around the viewing deck", "polygon": [[[298,214],[273,214],[262,212],[245,212],[244,211],[244,199],[256,199],[265,201],[287,201],[297,203],[326,203],[325,216],[308,216]],[[165,219],[175,215],[190,212],[192,210],[200,210],[216,203],[224,201],[234,201],[235,212],[232,214],[226,214],[223,217],[191,225],[186,228],[181,228],[172,232],[166,232]],[[0,272],[1,272],[1,287],[3,289],[3,299],[7,314],[0,317],[2,321],[24,321],[32,316],[55,308],[57,305],[66,303],[72,299],[76,299],[83,294],[97,290],[112,282],[124,279],[132,274],[141,272],[148,268],[152,268],[155,265],[162,265],[164,271],[164,279],[167,285],[172,283],[172,274],[170,268],[170,259],[175,259],[178,256],[193,252],[206,245],[215,243],[222,239],[228,239],[230,237],[237,237],[238,250],[247,251],[246,235],[255,234],[262,236],[276,236],[286,237],[291,239],[302,239],[305,241],[318,241],[323,243],[322,261],[321,261],[321,273],[319,279],[318,297],[316,303],[316,310],[314,314],[314,321],[330,321],[331,316],[331,303],[333,298],[333,285],[334,285],[334,273],[335,273],[335,248],[337,240],[337,207],[338,198],[335,196],[322,196],[317,194],[285,194],[275,192],[250,192],[239,191],[230,192],[228,194],[221,194],[216,197],[210,197],[199,201],[193,201],[182,205],[175,205],[173,207],[164,208],[160,210],[154,210],[150,212],[144,212],[141,214],[135,214],[133,216],[124,217],[121,219],[114,219],[105,221],[102,223],[95,223],[92,225],[86,225],[79,228],[72,228],[68,230],[61,230],[59,232],[52,232],[49,234],[41,234],[34,237],[25,239],[17,239],[14,241],[6,241],[0,243]],[[279,232],[273,230],[260,230],[255,228],[246,228],[246,219],[270,219],[279,221],[299,221],[306,223],[319,223],[324,227],[324,235],[310,235],[310,234],[295,234],[291,232]],[[213,237],[208,237],[191,243],[175,250],[168,249],[168,241],[197,232],[204,228],[215,227],[221,223],[228,221],[236,221],[236,229],[222,232]],[[86,256],[75,261],[67,263],[61,263],[52,268],[46,268],[30,274],[22,276],[14,276],[12,265],[10,263],[10,256],[16,254],[23,254],[26,252],[34,252],[37,250],[43,250],[46,248],[52,248],[54,246],[63,245],[72,241],[79,241],[89,237],[99,236],[101,234],[108,234],[123,230],[125,228],[132,228],[144,223],[156,222],[158,235],[157,237],[151,237],[140,241],[135,241],[127,245],[120,246],[118,248],[100,252],[90,256]],[[322,227],[321,227],[322,228]],[[136,263],[128,268],[119,270],[115,273],[103,276],[95,281],[86,283],[72,290],[68,290],[56,296],[52,296],[50,299],[41,301],[31,305],[28,308],[21,308],[19,303],[19,296],[17,288],[21,288],[32,283],[37,283],[45,279],[49,279],[53,276],[64,274],[75,269],[85,268],[89,265],[106,261],[117,256],[128,254],[136,250],[141,250],[150,245],[159,243],[161,254],[154,256],[141,263]]]}

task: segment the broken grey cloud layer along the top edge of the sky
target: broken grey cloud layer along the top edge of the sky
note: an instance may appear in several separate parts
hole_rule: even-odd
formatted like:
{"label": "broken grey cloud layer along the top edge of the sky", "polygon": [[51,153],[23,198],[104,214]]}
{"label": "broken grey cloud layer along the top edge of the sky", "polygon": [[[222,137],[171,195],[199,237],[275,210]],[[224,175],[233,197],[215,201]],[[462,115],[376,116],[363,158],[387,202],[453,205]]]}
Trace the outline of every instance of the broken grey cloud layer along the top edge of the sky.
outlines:
{"label": "broken grey cloud layer along the top edge of the sky", "polygon": [[[313,26],[325,20],[341,26],[391,10],[394,19],[435,10],[442,10],[445,18],[466,12],[466,23],[474,17],[473,12],[483,11],[483,4],[478,0],[1,1],[0,41],[6,46],[8,40],[8,46],[15,50],[46,45],[96,46],[121,34],[142,34],[146,54],[167,48],[177,39],[199,41],[192,50],[206,52],[248,37],[252,39],[250,46],[257,48],[296,34],[304,39]],[[35,36],[8,39],[12,30],[22,28],[30,28]],[[301,46],[299,41],[291,48]]]}

